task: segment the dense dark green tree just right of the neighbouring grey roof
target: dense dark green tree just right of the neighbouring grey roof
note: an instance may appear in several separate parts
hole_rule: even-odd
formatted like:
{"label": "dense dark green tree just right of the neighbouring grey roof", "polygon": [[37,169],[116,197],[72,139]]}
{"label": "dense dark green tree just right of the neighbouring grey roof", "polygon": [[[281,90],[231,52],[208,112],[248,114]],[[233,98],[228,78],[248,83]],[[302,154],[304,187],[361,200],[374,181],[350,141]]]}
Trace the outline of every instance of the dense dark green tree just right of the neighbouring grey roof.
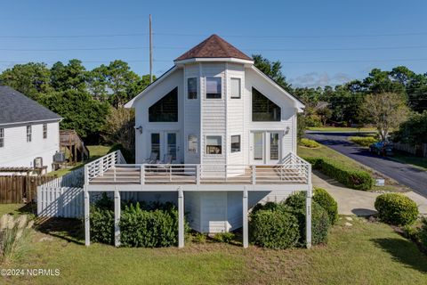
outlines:
{"label": "dense dark green tree just right of the neighbouring grey roof", "polygon": [[71,89],[47,94],[41,98],[41,103],[63,118],[62,129],[75,129],[81,137],[91,139],[99,136],[110,109],[108,103]]}

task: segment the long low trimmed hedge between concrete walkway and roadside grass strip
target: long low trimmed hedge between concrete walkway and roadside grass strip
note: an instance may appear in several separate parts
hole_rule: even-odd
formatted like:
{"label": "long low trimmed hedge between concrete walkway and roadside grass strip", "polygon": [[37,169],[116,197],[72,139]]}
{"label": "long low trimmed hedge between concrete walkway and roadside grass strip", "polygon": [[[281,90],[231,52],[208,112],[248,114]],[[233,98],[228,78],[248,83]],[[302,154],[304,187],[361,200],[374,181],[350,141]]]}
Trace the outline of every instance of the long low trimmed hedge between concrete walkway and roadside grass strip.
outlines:
{"label": "long low trimmed hedge between concrete walkway and roadside grass strip", "polygon": [[374,180],[367,171],[355,170],[326,158],[307,158],[306,160],[314,169],[352,189],[367,191],[374,185]]}

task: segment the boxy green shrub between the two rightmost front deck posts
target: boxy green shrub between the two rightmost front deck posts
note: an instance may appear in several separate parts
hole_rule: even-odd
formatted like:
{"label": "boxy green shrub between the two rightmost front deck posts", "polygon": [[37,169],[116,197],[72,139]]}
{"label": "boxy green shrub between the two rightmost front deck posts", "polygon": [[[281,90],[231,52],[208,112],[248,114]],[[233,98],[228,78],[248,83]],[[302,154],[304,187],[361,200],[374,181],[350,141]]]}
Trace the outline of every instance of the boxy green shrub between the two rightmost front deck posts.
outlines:
{"label": "boxy green shrub between the two rightmost front deck posts", "polygon": [[300,238],[299,224],[290,212],[260,209],[251,215],[251,237],[264,248],[292,248]]}

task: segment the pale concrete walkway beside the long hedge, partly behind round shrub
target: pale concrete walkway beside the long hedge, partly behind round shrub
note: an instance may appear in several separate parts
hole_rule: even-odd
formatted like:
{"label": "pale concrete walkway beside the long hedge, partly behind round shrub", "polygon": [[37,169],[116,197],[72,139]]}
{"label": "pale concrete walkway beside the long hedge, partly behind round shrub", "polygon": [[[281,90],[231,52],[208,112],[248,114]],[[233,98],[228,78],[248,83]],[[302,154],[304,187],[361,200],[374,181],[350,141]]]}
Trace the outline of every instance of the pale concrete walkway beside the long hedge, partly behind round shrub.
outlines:
{"label": "pale concrete walkway beside the long hedge, partly behind round shrub", "polygon": [[[313,171],[312,182],[313,186],[326,189],[334,197],[338,203],[338,213],[341,215],[369,216],[376,213],[374,203],[380,193],[347,188],[317,171]],[[406,192],[404,195],[415,200],[420,213],[427,215],[427,199],[414,191]]]}

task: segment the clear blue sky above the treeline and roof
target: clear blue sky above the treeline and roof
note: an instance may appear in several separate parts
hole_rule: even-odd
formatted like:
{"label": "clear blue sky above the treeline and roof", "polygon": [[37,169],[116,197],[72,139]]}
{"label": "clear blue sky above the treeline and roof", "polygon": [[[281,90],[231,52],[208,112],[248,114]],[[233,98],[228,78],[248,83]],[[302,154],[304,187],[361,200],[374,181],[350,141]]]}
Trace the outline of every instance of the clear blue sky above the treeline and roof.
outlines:
{"label": "clear blue sky above the treeline and roof", "polygon": [[338,85],[371,69],[427,72],[427,1],[48,1],[0,0],[0,71],[70,59],[86,69],[127,61],[153,73],[212,34],[251,55],[282,62],[294,86]]}

